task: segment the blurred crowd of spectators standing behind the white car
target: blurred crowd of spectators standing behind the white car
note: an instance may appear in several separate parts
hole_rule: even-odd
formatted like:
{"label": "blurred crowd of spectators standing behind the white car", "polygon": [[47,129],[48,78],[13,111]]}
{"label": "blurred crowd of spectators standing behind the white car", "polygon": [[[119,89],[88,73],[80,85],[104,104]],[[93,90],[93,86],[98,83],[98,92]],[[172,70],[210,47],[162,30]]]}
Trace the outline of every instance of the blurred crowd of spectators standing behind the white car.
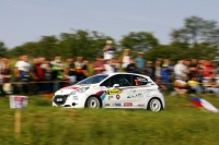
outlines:
{"label": "blurred crowd of spectators standing behind the white car", "polygon": [[[100,73],[128,72],[150,76],[159,86],[173,94],[203,94],[211,92],[219,95],[217,76],[218,63],[210,60],[181,59],[175,64],[170,59],[157,58],[155,61],[143,59],[138,52],[132,58],[129,49],[124,49],[119,57],[115,57],[113,41],[107,40],[103,48],[103,56],[96,56],[90,63],[83,57],[68,58],[62,61],[60,55],[49,58],[38,57],[32,63],[27,55],[22,55],[11,67],[10,60],[0,60],[0,93],[27,94],[32,92],[51,94],[55,90],[72,85],[90,75]],[[93,73],[89,73],[89,67]],[[32,83],[32,84],[31,84]],[[33,87],[34,86],[34,87]]]}

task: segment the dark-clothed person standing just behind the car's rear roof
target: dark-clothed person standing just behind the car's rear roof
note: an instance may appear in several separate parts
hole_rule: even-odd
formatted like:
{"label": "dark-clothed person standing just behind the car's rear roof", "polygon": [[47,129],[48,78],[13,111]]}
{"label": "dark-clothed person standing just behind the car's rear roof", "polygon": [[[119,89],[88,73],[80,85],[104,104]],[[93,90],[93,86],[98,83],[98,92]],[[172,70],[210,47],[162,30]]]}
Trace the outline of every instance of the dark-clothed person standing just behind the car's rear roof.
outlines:
{"label": "dark-clothed person standing just behind the car's rear roof", "polygon": [[142,74],[148,75],[151,80],[155,81],[155,72],[152,61],[148,61],[146,67],[142,69]]}

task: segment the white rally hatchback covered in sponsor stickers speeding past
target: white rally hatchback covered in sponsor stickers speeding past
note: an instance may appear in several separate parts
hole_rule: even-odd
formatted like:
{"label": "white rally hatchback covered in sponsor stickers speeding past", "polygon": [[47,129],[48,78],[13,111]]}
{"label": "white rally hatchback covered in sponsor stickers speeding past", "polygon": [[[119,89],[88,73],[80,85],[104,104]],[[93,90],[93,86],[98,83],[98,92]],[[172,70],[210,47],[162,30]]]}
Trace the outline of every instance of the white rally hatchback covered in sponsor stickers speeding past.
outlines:
{"label": "white rally hatchback covered in sponsor stickers speeding past", "polygon": [[165,107],[159,86],[146,75],[106,73],[64,87],[53,97],[54,107],[129,108],[160,111]]}

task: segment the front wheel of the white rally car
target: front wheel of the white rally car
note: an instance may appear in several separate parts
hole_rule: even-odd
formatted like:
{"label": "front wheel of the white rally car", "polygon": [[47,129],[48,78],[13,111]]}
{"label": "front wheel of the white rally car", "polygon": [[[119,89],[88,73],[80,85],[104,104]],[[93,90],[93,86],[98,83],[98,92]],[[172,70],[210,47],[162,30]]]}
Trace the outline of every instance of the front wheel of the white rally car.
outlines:
{"label": "front wheel of the white rally car", "polygon": [[96,96],[90,96],[85,101],[85,108],[97,109],[101,107],[102,107],[102,102],[100,98],[97,98]]}

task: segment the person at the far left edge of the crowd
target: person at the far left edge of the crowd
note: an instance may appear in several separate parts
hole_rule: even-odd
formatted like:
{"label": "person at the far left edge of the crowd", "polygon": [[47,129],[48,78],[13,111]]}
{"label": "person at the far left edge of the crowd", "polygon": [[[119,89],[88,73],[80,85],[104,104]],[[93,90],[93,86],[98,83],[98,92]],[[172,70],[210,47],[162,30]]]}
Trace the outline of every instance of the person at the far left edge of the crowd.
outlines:
{"label": "person at the far left edge of the crowd", "polygon": [[9,83],[11,78],[11,69],[7,58],[1,58],[0,62],[0,96],[4,96],[8,92],[4,90],[4,83]]}

